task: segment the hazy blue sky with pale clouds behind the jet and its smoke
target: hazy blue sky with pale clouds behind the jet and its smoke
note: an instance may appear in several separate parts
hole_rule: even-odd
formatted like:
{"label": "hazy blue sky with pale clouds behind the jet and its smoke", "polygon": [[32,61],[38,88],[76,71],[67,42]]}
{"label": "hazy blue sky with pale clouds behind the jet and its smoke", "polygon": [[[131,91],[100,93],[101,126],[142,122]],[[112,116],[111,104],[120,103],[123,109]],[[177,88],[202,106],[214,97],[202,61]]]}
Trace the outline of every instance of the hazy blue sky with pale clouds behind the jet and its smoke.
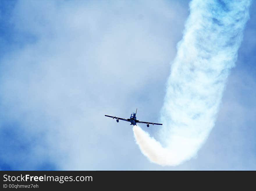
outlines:
{"label": "hazy blue sky with pale clouds behind the jet and its smoke", "polygon": [[159,121],[189,1],[1,1],[1,170],[255,170],[255,6],[209,138],[161,167],[104,114]]}

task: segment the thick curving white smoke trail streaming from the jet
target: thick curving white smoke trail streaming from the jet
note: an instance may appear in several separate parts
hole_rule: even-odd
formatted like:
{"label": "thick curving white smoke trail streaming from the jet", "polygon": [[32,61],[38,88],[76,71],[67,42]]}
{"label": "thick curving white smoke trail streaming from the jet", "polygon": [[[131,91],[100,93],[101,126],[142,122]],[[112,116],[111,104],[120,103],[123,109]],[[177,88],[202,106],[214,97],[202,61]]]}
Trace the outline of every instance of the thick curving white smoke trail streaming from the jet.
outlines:
{"label": "thick curving white smoke trail streaming from the jet", "polygon": [[191,1],[161,111],[165,148],[140,127],[133,128],[137,144],[150,161],[179,165],[194,157],[207,139],[237,60],[249,6],[248,0]]}

